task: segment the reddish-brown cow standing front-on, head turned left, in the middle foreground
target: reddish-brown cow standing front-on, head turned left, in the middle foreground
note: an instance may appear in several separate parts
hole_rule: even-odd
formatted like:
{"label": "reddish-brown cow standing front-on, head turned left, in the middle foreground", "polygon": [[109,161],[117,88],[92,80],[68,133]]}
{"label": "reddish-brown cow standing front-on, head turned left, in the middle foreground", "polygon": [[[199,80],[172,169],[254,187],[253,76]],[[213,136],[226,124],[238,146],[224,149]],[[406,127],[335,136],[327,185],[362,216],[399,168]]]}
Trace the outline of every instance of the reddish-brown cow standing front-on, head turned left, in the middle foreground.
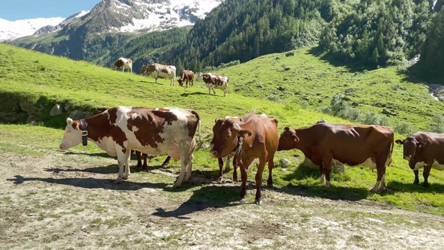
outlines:
{"label": "reddish-brown cow standing front-on, head turned left, in the middle foreground", "polygon": [[241,201],[246,201],[247,172],[257,164],[255,204],[262,205],[261,184],[264,167],[268,163],[267,185],[273,186],[273,159],[278,150],[278,120],[265,114],[248,114],[244,121],[234,123],[229,119],[214,133],[210,156],[221,158],[236,150],[234,157],[241,170]]}

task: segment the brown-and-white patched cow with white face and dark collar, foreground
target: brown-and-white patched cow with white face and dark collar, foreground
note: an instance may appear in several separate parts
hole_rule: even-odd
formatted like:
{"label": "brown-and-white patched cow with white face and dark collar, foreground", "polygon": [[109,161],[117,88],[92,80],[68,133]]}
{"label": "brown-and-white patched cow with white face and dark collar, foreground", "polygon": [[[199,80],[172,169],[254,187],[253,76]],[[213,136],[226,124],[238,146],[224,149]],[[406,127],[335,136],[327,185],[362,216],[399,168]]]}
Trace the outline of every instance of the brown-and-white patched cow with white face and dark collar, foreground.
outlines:
{"label": "brown-and-white patched cow with white face and dark collar, foreground", "polygon": [[185,172],[185,181],[191,176],[197,128],[200,138],[200,117],[194,110],[119,106],[86,119],[68,118],[60,149],[75,147],[80,142],[86,145],[88,140],[96,143],[110,156],[117,156],[116,183],[128,179],[131,149],[154,156],[167,153],[180,160],[180,175],[174,184],[179,187]]}

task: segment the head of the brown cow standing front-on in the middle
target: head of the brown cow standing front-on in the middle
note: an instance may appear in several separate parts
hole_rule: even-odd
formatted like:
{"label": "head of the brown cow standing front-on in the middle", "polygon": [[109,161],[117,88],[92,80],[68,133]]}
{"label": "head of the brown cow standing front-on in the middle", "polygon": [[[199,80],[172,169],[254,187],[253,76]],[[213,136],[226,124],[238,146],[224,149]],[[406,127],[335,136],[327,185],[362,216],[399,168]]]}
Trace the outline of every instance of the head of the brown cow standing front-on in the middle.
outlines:
{"label": "head of the brown cow standing front-on in the middle", "polygon": [[236,149],[239,138],[246,138],[253,133],[242,128],[242,124],[233,122],[232,119],[216,119],[213,126],[213,139],[211,140],[210,156],[221,158],[227,156]]}

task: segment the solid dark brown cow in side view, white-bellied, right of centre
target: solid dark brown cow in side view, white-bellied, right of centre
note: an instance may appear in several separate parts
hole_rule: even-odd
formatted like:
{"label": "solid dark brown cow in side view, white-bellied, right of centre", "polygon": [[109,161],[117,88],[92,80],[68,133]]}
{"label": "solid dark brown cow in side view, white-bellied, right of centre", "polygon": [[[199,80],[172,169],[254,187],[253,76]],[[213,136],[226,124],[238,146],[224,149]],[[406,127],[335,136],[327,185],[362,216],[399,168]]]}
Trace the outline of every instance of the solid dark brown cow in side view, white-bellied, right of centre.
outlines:
{"label": "solid dark brown cow in side view, white-bellied, right of centre", "polygon": [[307,128],[284,128],[280,150],[299,149],[321,170],[321,183],[330,188],[332,159],[349,166],[377,169],[370,192],[385,189],[386,166],[391,164],[394,133],[388,126],[319,123]]}

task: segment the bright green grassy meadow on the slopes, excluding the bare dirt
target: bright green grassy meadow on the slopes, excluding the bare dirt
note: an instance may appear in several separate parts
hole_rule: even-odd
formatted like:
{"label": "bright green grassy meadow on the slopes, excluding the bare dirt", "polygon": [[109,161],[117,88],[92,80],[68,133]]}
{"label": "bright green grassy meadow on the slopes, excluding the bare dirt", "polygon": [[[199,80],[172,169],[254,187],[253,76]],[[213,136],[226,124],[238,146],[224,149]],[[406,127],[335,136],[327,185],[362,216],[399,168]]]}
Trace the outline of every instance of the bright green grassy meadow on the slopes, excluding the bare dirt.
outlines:
{"label": "bright green grassy meadow on the slopes, excluding the bare dirt", "polygon": [[[3,59],[0,62],[2,113],[17,108],[19,100],[35,103],[43,113],[49,113],[56,103],[69,104],[83,110],[111,106],[191,108],[202,118],[203,144],[209,144],[212,139],[214,119],[227,115],[245,117],[252,112],[266,113],[278,119],[279,131],[284,126],[309,126],[321,118],[327,122],[351,123],[317,111],[321,106],[327,106],[336,93],[348,93],[350,101],[359,103],[357,108],[364,112],[380,113],[382,108],[374,105],[377,102],[384,103],[388,109],[399,114],[388,117],[390,124],[409,122],[418,130],[427,130],[433,115],[442,113],[444,108],[443,103],[432,99],[427,87],[411,81],[396,69],[357,72],[344,65],[332,65],[310,49],[296,50],[294,56],[285,56],[285,53],[262,56],[248,63],[220,69],[215,73],[230,76],[228,97],[223,97],[222,90],[216,90],[216,95],[209,95],[202,82],[195,81],[194,88],[180,88],[177,82],[176,86],[170,86],[167,80],[159,80],[155,84],[151,77],[123,74],[91,63],[49,56],[6,44],[0,44],[0,57]],[[139,69],[135,69],[135,72],[139,72]],[[272,95],[279,96],[279,99],[269,101]],[[303,106],[304,101],[309,106]],[[22,153],[28,156],[59,153],[58,144],[62,139],[66,117],[47,115],[46,119],[37,122],[39,126],[0,124],[0,153]],[[395,138],[401,139],[404,136],[396,134]],[[96,158],[107,157],[94,144],[87,147],[79,145],[69,151],[96,154]],[[208,173],[216,180],[217,163],[208,151],[196,150],[193,172]],[[282,158],[287,158],[291,163],[282,167]],[[158,156],[151,159],[148,165],[160,165],[163,160],[164,156]],[[325,189],[318,183],[321,176],[318,171],[300,166],[303,160],[300,151],[278,152],[273,169],[274,187],[303,189],[307,195],[326,199],[366,199],[407,210],[444,214],[444,173],[432,170],[429,188],[413,185],[413,172],[402,159],[402,148],[397,144],[392,166],[386,173],[388,189],[382,194],[368,193],[376,181],[376,172],[368,168],[346,167],[344,174],[333,172],[332,188]],[[171,167],[178,168],[180,165],[171,163]],[[255,168],[250,172],[248,181],[254,182],[254,174]],[[230,176],[232,171],[225,174],[226,178]],[[157,177],[164,183],[173,184],[171,178]],[[183,192],[187,194],[198,188],[185,188]],[[214,194],[203,199],[224,199],[227,195],[237,197],[239,192]],[[253,200],[254,195],[249,194],[248,199]]]}

